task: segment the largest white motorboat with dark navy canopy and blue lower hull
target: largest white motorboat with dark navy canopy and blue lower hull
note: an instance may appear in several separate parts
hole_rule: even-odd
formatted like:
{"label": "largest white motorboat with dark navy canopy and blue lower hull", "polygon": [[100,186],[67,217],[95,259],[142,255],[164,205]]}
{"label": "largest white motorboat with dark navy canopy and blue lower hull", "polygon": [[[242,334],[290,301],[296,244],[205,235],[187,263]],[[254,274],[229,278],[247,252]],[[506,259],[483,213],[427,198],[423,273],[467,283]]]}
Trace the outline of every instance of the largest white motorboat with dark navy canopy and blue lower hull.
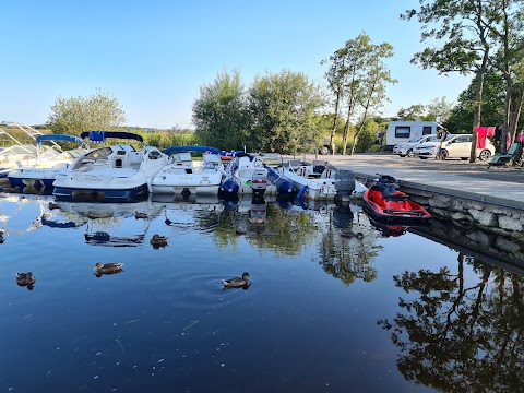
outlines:
{"label": "largest white motorboat with dark navy canopy and blue lower hull", "polygon": [[91,150],[80,156],[70,171],[57,175],[52,194],[100,201],[130,201],[151,192],[151,181],[167,164],[167,156],[157,147],[147,146],[141,135],[130,132],[86,131],[81,138],[93,143],[106,139],[135,140],[141,147],[116,144]]}

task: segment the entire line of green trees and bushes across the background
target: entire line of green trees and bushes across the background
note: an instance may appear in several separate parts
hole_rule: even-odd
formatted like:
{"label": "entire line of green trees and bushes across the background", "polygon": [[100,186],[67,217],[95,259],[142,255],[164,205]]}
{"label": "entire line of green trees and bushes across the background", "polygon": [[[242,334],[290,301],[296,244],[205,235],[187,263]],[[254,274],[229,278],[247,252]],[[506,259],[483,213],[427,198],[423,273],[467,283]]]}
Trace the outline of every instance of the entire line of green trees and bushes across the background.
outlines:
{"label": "entire line of green trees and bushes across the background", "polygon": [[[397,118],[436,120],[455,133],[502,124],[503,140],[514,141],[524,103],[523,5],[524,0],[420,0],[417,9],[401,14],[420,23],[421,41],[428,43],[412,63],[473,76],[454,106],[441,97],[401,108],[396,118],[381,117],[386,88],[397,82],[385,63],[394,48],[374,44],[362,32],[321,60],[326,70],[320,82],[285,69],[258,74],[246,85],[238,70],[218,72],[200,87],[192,105],[194,133],[186,142],[295,153],[321,145],[329,135],[343,154],[348,146],[353,154],[369,148],[374,132]],[[80,133],[119,128],[124,121],[118,100],[97,91],[88,98],[58,98],[48,124],[56,133]]]}

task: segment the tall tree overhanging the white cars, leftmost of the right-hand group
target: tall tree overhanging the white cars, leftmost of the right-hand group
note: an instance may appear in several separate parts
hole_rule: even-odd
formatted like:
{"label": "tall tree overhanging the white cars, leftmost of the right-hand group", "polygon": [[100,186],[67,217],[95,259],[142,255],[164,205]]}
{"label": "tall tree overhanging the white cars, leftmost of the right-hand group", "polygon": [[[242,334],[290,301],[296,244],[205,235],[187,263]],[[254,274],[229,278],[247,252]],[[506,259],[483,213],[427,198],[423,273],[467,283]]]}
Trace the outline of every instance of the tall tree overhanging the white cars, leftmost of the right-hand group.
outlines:
{"label": "tall tree overhanging the white cars, leftmost of the right-hand group", "polygon": [[[416,17],[421,25],[421,41],[429,46],[415,53],[412,63],[439,73],[474,73],[477,81],[476,106],[473,119],[473,143],[469,160],[476,160],[476,133],[480,126],[484,75],[493,45],[490,27],[496,13],[486,0],[420,0],[419,9],[405,11],[403,20]],[[442,43],[436,47],[436,43]]]}

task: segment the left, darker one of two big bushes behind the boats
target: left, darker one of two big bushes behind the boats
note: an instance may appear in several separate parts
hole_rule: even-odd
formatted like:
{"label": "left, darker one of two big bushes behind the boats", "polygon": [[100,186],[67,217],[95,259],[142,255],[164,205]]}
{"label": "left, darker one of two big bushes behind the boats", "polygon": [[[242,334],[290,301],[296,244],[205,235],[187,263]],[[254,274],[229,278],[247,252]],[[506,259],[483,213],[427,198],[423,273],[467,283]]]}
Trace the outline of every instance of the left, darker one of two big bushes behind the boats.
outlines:
{"label": "left, darker one of two big bushes behind the boats", "polygon": [[240,73],[219,73],[213,84],[200,87],[193,103],[195,135],[204,145],[240,150],[249,145],[247,99]]}

